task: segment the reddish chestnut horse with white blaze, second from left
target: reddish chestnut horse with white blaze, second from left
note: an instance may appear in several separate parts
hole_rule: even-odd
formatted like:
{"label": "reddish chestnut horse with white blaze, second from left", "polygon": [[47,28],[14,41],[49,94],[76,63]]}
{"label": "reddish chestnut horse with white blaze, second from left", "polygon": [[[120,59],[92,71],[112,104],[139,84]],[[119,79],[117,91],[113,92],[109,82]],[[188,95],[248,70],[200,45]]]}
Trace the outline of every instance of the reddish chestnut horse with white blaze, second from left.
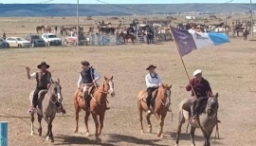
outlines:
{"label": "reddish chestnut horse with white blaze, second from left", "polygon": [[[113,98],[115,96],[115,91],[114,91],[114,82],[113,76],[108,79],[104,77],[104,82],[100,87],[93,87],[90,91],[91,95],[91,100],[90,100],[90,110],[86,111],[84,107],[84,100],[82,97],[80,97],[79,93],[81,92],[80,89],[78,89],[75,92],[74,95],[74,105],[75,105],[75,110],[76,110],[76,129],[75,133],[78,132],[78,119],[79,119],[79,112],[81,109],[85,111],[85,117],[84,117],[84,123],[85,123],[85,131],[86,131],[86,136],[89,136],[89,129],[88,129],[88,119],[90,114],[92,114],[92,117],[95,122],[95,137],[96,140],[101,140],[99,136],[101,135],[101,130],[103,128],[103,121],[104,121],[104,116],[105,116],[105,111],[106,111],[106,104],[107,104],[107,95],[110,90],[110,95]],[[100,124],[98,121],[98,116],[100,116]],[[100,129],[99,129],[100,127]]]}

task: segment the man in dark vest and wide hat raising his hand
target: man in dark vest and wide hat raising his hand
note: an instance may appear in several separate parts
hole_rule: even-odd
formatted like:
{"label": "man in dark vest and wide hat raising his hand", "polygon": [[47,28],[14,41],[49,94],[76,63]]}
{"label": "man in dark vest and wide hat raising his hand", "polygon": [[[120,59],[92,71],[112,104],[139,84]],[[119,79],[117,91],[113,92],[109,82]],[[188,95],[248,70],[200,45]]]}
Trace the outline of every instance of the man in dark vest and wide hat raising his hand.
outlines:
{"label": "man in dark vest and wide hat raising his hand", "polygon": [[[51,83],[51,73],[47,70],[50,66],[46,64],[46,62],[42,62],[41,64],[37,65],[37,68],[40,69],[38,72],[34,72],[30,74],[30,68],[26,67],[27,70],[27,79],[35,79],[36,80],[36,89],[34,90],[33,94],[33,100],[32,100],[32,107],[28,110],[29,113],[35,113],[36,112],[36,106],[38,105],[38,94],[41,90],[47,90],[48,86]],[[57,103],[58,106],[58,113],[63,112],[65,113],[65,110],[63,108],[62,103]]]}

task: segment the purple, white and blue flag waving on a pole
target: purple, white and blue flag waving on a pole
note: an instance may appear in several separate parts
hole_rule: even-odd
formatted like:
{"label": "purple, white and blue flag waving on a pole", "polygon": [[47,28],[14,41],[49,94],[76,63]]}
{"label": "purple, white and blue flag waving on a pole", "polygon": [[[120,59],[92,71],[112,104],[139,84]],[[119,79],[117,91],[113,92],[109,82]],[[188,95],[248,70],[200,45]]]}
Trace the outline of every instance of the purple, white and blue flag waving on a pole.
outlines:
{"label": "purple, white and blue flag waving on a pole", "polygon": [[181,56],[191,53],[194,49],[229,43],[229,37],[225,33],[196,32],[192,29],[184,30],[174,27],[172,32]]}

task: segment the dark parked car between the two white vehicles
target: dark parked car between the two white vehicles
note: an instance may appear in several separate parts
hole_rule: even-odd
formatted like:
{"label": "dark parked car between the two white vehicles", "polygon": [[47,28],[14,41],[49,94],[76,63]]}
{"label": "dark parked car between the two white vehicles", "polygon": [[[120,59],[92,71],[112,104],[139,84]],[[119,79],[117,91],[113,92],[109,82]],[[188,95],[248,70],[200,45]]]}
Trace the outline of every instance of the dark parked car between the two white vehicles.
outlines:
{"label": "dark parked car between the two white vehicles", "polygon": [[46,42],[38,34],[28,34],[26,40],[30,42],[32,47],[36,46],[46,46]]}

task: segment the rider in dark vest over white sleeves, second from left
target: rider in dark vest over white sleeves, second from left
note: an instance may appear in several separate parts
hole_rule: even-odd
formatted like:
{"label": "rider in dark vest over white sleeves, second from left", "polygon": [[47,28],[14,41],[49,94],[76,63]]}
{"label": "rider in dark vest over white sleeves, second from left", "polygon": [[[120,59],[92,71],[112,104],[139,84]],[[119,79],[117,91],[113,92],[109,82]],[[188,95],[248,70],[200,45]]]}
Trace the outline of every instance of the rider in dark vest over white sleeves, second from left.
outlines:
{"label": "rider in dark vest over white sleeves, second from left", "polygon": [[91,86],[97,85],[97,82],[100,80],[100,75],[92,66],[90,66],[89,62],[82,61],[81,64],[82,71],[79,76],[78,88],[81,89],[81,85],[83,85],[82,92],[85,108],[88,109],[90,100],[88,90]]}

